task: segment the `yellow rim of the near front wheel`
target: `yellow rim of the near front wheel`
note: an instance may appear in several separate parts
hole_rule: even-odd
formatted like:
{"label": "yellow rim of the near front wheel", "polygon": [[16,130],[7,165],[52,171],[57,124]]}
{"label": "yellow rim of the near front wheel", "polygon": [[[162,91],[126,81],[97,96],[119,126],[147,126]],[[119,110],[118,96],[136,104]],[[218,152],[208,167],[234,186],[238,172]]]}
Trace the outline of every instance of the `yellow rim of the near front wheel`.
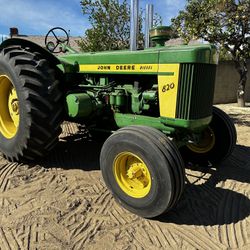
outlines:
{"label": "yellow rim of the near front wheel", "polygon": [[133,198],[145,197],[151,188],[151,177],[147,165],[137,155],[123,152],[113,164],[115,179],[119,187]]}

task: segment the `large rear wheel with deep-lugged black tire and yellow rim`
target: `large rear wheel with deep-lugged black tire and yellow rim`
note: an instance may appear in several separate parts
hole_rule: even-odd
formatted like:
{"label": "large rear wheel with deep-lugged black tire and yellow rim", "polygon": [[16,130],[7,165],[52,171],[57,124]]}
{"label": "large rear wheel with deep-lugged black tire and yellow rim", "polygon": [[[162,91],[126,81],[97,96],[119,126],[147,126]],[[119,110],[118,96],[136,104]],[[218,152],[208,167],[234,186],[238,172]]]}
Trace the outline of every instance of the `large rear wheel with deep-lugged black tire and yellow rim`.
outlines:
{"label": "large rear wheel with deep-lugged black tire and yellow rim", "polygon": [[10,161],[34,160],[53,148],[63,105],[58,71],[31,48],[0,52],[0,151]]}

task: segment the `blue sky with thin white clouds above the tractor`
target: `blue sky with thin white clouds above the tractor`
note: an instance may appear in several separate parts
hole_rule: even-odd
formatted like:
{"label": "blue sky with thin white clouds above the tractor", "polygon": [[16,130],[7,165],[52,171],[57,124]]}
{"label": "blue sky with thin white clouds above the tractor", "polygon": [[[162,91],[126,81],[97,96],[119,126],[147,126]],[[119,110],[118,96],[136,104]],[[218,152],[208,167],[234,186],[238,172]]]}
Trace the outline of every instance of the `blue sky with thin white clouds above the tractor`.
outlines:
{"label": "blue sky with thin white clouds above the tractor", "polygon": [[[130,0],[128,0],[130,3]],[[154,12],[169,25],[172,17],[185,6],[185,0],[139,0],[140,8],[154,5]],[[89,28],[87,16],[81,11],[80,0],[0,0],[0,36],[17,27],[22,35],[46,35],[53,27],[70,30],[72,36],[83,36]]]}

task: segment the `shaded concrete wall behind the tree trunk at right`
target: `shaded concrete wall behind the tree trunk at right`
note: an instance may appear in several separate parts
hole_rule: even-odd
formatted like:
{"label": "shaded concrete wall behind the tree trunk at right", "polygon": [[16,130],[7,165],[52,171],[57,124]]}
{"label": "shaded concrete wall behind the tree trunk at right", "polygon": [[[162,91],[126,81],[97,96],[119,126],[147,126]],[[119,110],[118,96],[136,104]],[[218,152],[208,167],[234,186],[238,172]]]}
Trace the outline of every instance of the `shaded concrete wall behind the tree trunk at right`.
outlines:
{"label": "shaded concrete wall behind the tree trunk at right", "polygon": [[[237,102],[236,92],[239,74],[231,61],[220,62],[217,68],[214,103]],[[248,79],[246,84],[246,101],[250,102],[250,61],[248,62]]]}

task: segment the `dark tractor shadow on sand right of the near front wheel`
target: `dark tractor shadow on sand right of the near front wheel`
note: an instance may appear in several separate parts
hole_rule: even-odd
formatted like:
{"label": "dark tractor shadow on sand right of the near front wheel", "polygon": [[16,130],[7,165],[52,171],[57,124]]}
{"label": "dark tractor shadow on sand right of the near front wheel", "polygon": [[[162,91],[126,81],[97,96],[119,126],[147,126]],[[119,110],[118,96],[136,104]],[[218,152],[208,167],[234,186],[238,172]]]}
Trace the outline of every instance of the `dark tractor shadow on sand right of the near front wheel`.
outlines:
{"label": "dark tractor shadow on sand right of the near front wheel", "polygon": [[237,145],[217,168],[186,169],[186,186],[176,207],[156,220],[179,225],[237,223],[250,215],[250,147]]}

